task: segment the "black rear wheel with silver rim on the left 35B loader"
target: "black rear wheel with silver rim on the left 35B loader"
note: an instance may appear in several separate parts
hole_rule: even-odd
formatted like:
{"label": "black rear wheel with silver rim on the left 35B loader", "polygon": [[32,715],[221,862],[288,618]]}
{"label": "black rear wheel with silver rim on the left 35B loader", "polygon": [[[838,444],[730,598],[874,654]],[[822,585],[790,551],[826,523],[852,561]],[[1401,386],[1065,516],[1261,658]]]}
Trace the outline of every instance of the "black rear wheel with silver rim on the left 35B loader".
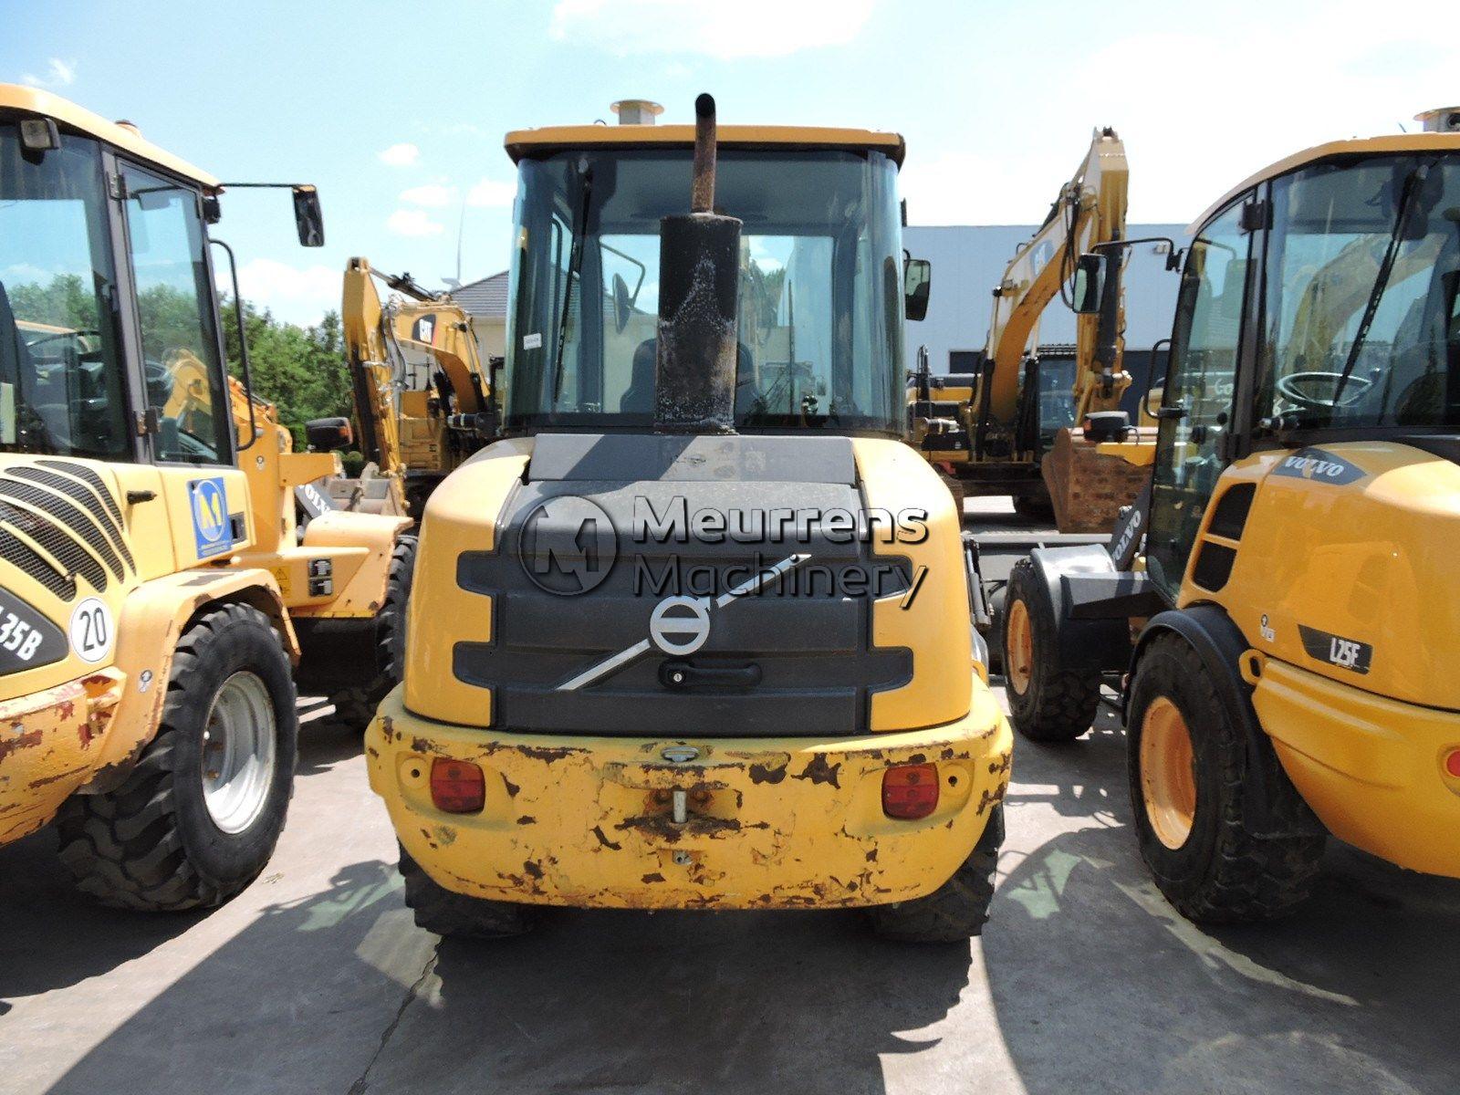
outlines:
{"label": "black rear wheel with silver rim on the left 35B loader", "polygon": [[[61,861],[76,885],[137,910],[207,908],[238,894],[283,831],[298,726],[289,657],[269,618],[247,604],[206,610],[178,641],[162,721],[127,780],[61,807]],[[238,769],[231,797],[232,780],[222,796],[206,790],[204,772],[253,756],[239,742],[266,759]]]}

